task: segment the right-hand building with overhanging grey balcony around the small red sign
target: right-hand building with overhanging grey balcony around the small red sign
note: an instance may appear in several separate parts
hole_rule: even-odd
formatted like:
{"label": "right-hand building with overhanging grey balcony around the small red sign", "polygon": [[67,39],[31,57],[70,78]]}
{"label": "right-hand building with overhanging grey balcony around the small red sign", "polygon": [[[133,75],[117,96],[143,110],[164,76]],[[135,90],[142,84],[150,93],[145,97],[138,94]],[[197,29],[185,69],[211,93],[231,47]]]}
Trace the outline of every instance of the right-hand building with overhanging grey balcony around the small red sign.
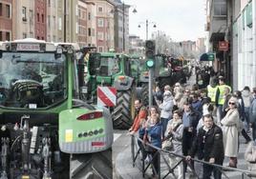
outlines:
{"label": "right-hand building with overhanging grey balcony around the small red sign", "polygon": [[232,44],[231,21],[232,2],[229,0],[207,0],[206,1],[206,25],[205,30],[209,32],[208,51],[215,53],[213,67],[215,71],[224,71],[228,84],[232,84],[231,49],[221,50],[220,42]]}

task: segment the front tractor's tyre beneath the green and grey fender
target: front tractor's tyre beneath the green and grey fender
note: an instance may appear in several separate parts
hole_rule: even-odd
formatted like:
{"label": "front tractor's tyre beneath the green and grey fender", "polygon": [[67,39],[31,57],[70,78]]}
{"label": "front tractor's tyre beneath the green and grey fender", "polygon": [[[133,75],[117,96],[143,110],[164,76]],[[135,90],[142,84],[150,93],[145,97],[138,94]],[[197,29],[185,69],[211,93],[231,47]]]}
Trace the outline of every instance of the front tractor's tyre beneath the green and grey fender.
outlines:
{"label": "front tractor's tyre beneath the green and grey fender", "polygon": [[112,149],[88,154],[72,154],[71,179],[112,179]]}

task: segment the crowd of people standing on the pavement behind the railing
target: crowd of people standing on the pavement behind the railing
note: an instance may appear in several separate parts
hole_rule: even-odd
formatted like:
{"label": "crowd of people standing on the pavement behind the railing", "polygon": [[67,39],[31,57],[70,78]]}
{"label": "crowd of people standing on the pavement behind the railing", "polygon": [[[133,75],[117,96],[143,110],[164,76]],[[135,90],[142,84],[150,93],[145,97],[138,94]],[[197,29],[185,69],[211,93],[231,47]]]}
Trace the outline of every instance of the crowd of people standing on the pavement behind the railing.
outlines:
{"label": "crowd of people standing on the pavement behind the railing", "polygon": [[[232,93],[224,81],[220,75],[211,77],[201,89],[197,84],[183,88],[180,83],[165,86],[163,91],[156,88],[156,106],[148,109],[139,99],[135,101],[136,117],[130,133],[138,133],[145,144],[183,155],[185,162],[181,157],[169,156],[171,167],[179,164],[178,178],[183,178],[189,165],[203,179],[212,174],[221,179],[222,172],[211,165],[194,164],[192,158],[221,166],[228,158],[227,167],[237,168],[242,134],[247,144],[248,169],[256,172],[256,88],[251,91],[245,87]],[[139,147],[142,148],[141,142]],[[153,177],[157,177],[159,152],[146,151],[142,160],[152,160]]]}

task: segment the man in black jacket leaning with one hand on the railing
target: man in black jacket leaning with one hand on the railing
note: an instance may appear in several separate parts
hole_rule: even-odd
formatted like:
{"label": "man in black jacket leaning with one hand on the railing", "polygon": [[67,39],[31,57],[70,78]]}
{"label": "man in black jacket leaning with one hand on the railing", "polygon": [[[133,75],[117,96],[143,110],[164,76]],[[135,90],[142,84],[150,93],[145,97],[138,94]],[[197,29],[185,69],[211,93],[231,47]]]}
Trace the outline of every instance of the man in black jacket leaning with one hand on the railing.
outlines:
{"label": "man in black jacket leaning with one hand on the railing", "polygon": [[[210,114],[203,116],[203,127],[199,129],[198,135],[188,152],[187,160],[198,154],[198,158],[211,164],[223,165],[224,142],[223,131],[213,122]],[[222,178],[222,172],[213,166],[203,164],[203,179],[210,179],[213,172],[215,179]]]}

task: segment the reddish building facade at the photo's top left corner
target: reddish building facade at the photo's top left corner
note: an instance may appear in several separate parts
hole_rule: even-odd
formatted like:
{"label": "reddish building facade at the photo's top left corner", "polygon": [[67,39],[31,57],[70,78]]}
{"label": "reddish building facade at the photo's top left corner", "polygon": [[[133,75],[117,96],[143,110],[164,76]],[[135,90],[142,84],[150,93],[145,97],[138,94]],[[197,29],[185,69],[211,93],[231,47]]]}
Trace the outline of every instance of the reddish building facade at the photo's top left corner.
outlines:
{"label": "reddish building facade at the photo's top left corner", "polygon": [[12,2],[0,0],[0,41],[12,38]]}

